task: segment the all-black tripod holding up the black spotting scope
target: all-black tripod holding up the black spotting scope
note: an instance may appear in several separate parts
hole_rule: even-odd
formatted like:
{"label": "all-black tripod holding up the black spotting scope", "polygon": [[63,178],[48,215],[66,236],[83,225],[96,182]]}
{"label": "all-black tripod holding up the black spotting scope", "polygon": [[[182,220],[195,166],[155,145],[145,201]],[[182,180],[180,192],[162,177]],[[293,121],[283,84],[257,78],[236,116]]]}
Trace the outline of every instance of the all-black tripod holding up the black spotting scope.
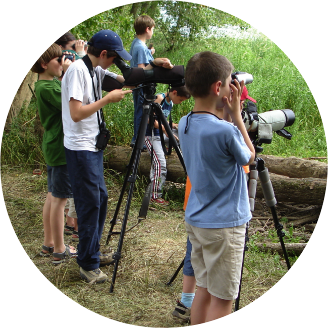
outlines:
{"label": "all-black tripod holding up the black spotting scope", "polygon": [[[130,162],[127,167],[127,173],[126,173],[126,176],[124,179],[124,183],[123,183],[123,187],[122,187],[121,194],[119,197],[119,201],[116,206],[116,210],[115,210],[113,219],[110,222],[111,228],[110,228],[110,231],[108,232],[108,236],[107,236],[107,240],[106,240],[106,245],[107,245],[108,242],[110,241],[112,235],[120,235],[117,251],[114,252],[114,255],[113,255],[113,258],[115,259],[115,266],[114,266],[114,271],[113,271],[110,293],[113,293],[113,290],[114,290],[117,270],[119,267],[119,261],[121,259],[123,240],[124,240],[124,235],[126,232],[126,226],[127,226],[128,217],[129,217],[133,189],[134,189],[135,182],[137,180],[138,166],[139,166],[141,151],[142,151],[144,141],[145,141],[147,124],[148,124],[148,120],[153,115],[153,113],[155,113],[157,118],[161,121],[161,124],[165,127],[165,130],[169,136],[169,140],[172,143],[173,147],[175,148],[176,153],[181,161],[181,164],[182,164],[184,170],[186,171],[183,157],[182,157],[180,148],[178,146],[177,140],[174,137],[174,134],[169,126],[169,123],[168,123],[165,115],[163,114],[163,111],[161,110],[161,106],[158,103],[154,102],[154,100],[156,99],[156,96],[154,95],[156,92],[156,83],[149,83],[148,85],[143,85],[142,88],[145,88],[145,91],[144,91],[145,100],[142,105],[142,119],[141,119],[141,123],[139,126],[139,131],[137,134],[136,142],[133,147],[132,154],[131,154]],[[136,90],[136,89],[137,88],[135,88],[134,90]],[[130,175],[131,171],[132,171],[132,174]],[[118,214],[120,211],[120,207],[121,207],[121,204],[123,201],[124,193],[125,193],[128,182],[130,183],[130,188],[128,191],[128,198],[127,198],[127,202],[126,202],[126,206],[125,206],[125,212],[124,212],[124,216],[123,216],[121,232],[113,232],[114,226],[117,223],[117,217],[118,217]],[[142,203],[142,206],[141,206],[141,209],[140,209],[140,212],[138,215],[138,223],[140,223],[142,220],[144,220],[146,218],[148,207],[149,207],[150,194],[151,194],[151,186],[149,184],[145,190],[145,196],[148,195],[148,198],[147,197],[144,198],[144,201]],[[146,201],[145,201],[145,199],[146,199]]]}

